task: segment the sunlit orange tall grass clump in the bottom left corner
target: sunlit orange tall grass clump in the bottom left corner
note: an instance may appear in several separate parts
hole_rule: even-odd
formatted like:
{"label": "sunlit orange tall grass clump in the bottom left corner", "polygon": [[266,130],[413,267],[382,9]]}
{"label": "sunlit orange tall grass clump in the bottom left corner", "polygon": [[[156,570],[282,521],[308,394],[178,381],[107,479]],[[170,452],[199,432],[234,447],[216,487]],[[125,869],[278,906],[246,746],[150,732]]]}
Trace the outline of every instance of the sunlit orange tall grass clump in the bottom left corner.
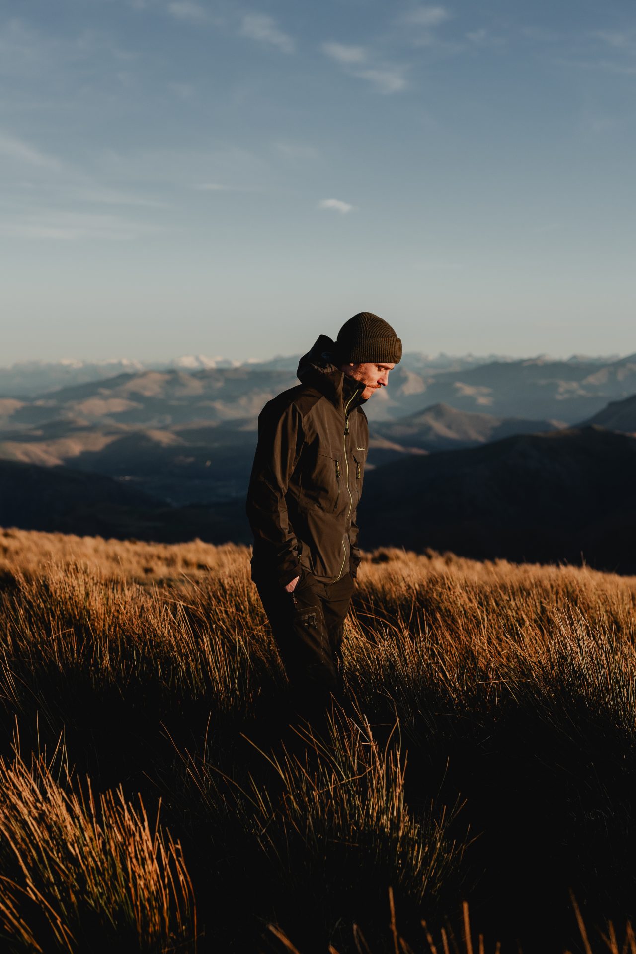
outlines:
{"label": "sunlit orange tall grass clump in the bottom left corner", "polygon": [[[63,759],[59,753],[57,759]],[[43,758],[0,761],[2,918],[19,950],[192,950],[181,847],[119,789],[66,785]]]}

